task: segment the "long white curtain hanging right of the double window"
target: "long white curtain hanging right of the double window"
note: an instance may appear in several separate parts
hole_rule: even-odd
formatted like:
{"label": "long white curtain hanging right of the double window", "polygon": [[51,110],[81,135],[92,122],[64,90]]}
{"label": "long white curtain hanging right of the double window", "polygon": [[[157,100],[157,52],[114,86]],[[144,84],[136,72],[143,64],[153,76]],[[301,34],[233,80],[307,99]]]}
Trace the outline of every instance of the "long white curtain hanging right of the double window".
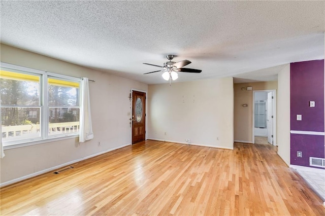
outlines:
{"label": "long white curtain hanging right of the double window", "polygon": [[88,78],[82,78],[79,142],[85,142],[86,140],[92,138],[93,133],[90,114],[89,81]]}

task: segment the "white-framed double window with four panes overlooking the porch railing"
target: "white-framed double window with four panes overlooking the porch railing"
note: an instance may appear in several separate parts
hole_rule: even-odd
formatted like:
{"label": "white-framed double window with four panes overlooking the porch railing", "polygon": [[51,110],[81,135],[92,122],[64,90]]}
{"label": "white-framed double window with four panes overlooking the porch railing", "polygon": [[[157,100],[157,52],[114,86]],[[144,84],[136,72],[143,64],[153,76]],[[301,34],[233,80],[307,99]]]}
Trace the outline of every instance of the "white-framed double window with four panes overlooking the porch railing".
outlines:
{"label": "white-framed double window with four panes overlooking the porch railing", "polygon": [[79,134],[80,78],[1,66],[4,146]]}

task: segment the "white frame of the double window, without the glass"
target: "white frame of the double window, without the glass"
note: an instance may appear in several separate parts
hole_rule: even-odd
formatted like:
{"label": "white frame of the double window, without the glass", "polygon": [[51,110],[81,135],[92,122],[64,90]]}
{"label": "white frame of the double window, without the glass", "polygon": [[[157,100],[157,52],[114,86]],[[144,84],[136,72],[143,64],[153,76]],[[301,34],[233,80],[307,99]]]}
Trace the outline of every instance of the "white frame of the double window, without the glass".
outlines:
{"label": "white frame of the double window, without the glass", "polygon": [[[3,141],[3,146],[5,150],[24,147],[24,146],[37,145],[41,143],[57,141],[62,139],[71,139],[71,138],[79,137],[79,133],[80,133],[79,131],[72,132],[72,133],[55,134],[55,135],[50,135],[48,133],[49,131],[48,77],[57,78],[59,80],[65,80],[70,82],[77,82],[79,83],[79,92],[81,92],[82,90],[81,78],[71,77],[67,75],[60,75],[45,70],[28,68],[28,67],[4,63],[4,62],[0,62],[0,67],[1,69],[5,69],[5,70],[7,69],[8,71],[12,71],[14,73],[27,74],[27,75],[29,74],[29,75],[40,77],[40,100],[39,100],[40,137],[12,140],[12,141]],[[81,101],[81,94],[79,93],[79,106],[73,106],[73,108],[78,107],[80,109],[79,124],[80,124],[80,113],[82,110],[80,101]],[[0,107],[6,107],[6,106],[2,106],[0,104]]]}

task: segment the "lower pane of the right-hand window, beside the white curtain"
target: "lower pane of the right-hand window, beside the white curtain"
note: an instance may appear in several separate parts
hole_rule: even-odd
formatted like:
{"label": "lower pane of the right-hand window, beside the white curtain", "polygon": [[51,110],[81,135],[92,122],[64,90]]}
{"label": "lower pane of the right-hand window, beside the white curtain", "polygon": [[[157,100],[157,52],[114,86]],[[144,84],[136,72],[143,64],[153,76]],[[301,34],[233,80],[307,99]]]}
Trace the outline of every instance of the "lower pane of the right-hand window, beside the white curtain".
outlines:
{"label": "lower pane of the right-hand window, beside the white curtain", "polygon": [[79,131],[79,108],[50,108],[49,135]]}

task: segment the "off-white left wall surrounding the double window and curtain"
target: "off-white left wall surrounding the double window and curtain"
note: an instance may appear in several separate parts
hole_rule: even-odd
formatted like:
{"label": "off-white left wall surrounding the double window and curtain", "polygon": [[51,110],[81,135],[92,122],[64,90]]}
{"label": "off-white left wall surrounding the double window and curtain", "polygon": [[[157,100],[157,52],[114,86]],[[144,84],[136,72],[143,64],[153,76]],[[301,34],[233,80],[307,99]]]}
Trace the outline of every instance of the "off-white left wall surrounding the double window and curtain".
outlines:
{"label": "off-white left wall surrounding the double window and curtain", "polygon": [[[1,61],[96,81],[89,83],[94,139],[79,143],[77,138],[72,138],[5,150],[6,156],[1,159],[2,186],[131,144],[128,96],[131,88],[147,91],[147,84],[3,44]],[[97,145],[98,141],[101,146]]]}

